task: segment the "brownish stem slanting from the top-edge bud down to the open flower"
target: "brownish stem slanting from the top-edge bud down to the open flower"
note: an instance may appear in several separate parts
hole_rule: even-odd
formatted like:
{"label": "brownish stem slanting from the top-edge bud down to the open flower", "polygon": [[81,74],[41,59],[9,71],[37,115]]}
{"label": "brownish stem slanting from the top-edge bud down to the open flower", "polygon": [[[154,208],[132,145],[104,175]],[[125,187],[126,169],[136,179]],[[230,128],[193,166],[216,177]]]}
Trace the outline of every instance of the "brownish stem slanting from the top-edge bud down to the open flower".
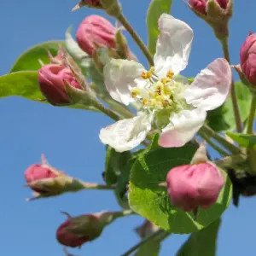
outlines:
{"label": "brownish stem slanting from the top-edge bud down to the open flower", "polygon": [[125,27],[125,29],[127,30],[127,32],[130,33],[131,38],[134,39],[134,41],[137,43],[138,47],[143,51],[143,54],[146,56],[149,65],[152,67],[154,66],[154,60],[153,60],[153,56],[150,54],[147,46],[143,43],[142,38],[139,37],[139,35],[137,34],[137,32],[132,28],[131,24],[129,23],[129,21],[125,18],[124,15],[119,15],[117,17],[117,19],[119,20],[119,22]]}

